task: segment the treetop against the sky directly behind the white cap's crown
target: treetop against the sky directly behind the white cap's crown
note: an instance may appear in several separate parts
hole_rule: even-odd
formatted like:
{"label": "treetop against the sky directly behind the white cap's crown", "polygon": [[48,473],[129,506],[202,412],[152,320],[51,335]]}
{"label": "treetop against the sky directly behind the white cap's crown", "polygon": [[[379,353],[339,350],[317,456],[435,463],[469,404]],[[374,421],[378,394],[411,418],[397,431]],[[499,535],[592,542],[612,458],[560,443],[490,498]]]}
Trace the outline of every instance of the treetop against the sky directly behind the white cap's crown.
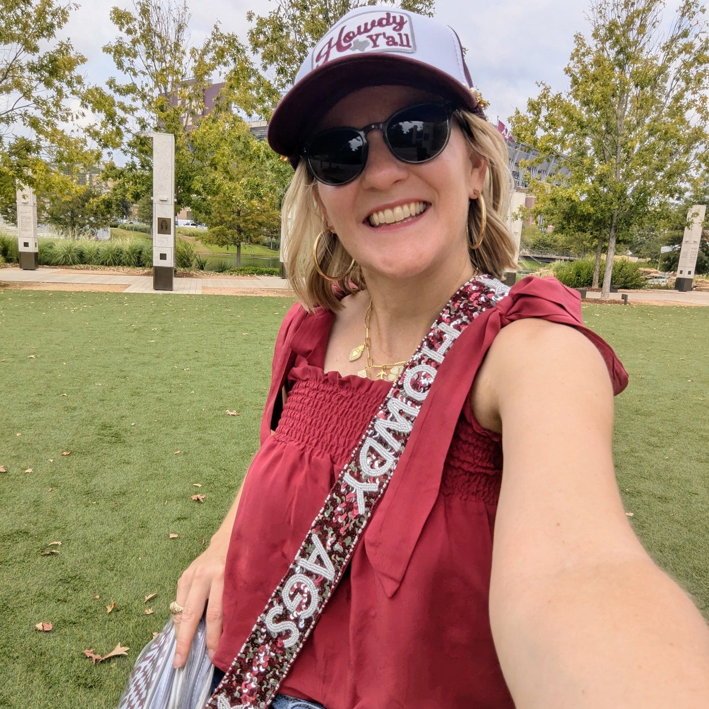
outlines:
{"label": "treetop against the sky directly behind the white cap's crown", "polygon": [[[330,26],[350,10],[368,5],[391,5],[432,16],[433,0],[276,0],[276,6],[265,16],[249,11],[249,46],[260,57],[261,68],[277,93],[293,84],[296,73],[311,48]],[[275,103],[272,105],[275,108]]]}

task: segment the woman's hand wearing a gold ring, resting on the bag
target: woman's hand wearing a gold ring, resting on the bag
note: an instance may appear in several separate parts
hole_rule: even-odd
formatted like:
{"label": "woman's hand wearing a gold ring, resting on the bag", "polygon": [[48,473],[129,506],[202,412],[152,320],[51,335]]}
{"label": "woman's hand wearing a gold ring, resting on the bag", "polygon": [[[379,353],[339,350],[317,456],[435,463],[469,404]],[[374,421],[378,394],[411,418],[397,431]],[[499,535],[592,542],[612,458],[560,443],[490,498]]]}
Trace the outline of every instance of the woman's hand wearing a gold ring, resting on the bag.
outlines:
{"label": "woman's hand wearing a gold ring, resting on the bag", "polygon": [[207,652],[214,657],[222,632],[222,593],[224,591],[224,566],[228,544],[212,540],[180,576],[177,582],[177,603],[184,611],[173,615],[177,648],[172,666],[185,664],[199,620],[207,605]]}

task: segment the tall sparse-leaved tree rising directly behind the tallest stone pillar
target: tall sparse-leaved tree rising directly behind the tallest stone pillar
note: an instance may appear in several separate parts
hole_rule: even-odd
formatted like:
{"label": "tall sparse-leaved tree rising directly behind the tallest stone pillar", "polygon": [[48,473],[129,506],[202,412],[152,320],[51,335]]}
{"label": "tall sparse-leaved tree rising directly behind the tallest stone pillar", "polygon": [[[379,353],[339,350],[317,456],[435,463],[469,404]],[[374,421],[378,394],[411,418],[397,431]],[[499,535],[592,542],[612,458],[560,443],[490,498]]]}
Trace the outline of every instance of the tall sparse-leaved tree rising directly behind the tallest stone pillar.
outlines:
{"label": "tall sparse-leaved tree rising directly behind the tallest stone pillar", "polygon": [[196,193],[199,168],[190,135],[208,113],[205,96],[213,74],[238,67],[233,73],[240,87],[231,92],[230,103],[242,101],[255,110],[258,96],[250,82],[257,72],[250,69],[237,36],[223,33],[215,24],[201,45],[191,46],[190,18],[184,0],[134,0],[133,10],[113,7],[111,21],[119,34],[104,52],[128,80],[111,78],[109,92],[95,91],[91,96],[104,116],[95,137],[106,147],[121,146],[129,155],[125,167],[111,169],[111,177],[123,183],[133,201],[152,189],[152,146],[146,134],[174,134],[177,210],[191,206]]}

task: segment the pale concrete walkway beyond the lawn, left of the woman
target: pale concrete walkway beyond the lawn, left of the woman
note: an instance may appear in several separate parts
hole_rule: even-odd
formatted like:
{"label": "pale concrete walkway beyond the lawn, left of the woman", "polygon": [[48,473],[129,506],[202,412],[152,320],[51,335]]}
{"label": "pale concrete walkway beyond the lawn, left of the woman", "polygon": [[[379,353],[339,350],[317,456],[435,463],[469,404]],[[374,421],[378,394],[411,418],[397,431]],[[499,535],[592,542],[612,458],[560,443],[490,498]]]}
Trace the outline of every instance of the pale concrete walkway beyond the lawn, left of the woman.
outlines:
{"label": "pale concrete walkway beyond the lawn, left of the woman", "polygon": [[36,271],[23,271],[17,267],[0,269],[0,283],[46,283],[125,286],[122,293],[169,294],[181,293],[201,295],[202,289],[267,289],[289,291],[288,281],[278,276],[224,276],[219,278],[175,278],[172,291],[155,291],[152,288],[152,276],[131,276],[130,274],[104,274],[100,271],[86,272],[61,268],[40,268]]}

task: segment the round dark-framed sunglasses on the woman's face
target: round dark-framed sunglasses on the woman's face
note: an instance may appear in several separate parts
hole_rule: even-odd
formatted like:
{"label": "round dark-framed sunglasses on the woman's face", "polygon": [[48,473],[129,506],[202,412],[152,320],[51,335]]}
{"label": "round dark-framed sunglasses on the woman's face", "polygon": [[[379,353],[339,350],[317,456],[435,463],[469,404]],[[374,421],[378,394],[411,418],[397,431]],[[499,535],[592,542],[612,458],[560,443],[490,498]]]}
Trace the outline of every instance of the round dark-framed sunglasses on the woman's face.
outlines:
{"label": "round dark-framed sunglasses on the woman's face", "polygon": [[359,128],[329,128],[303,147],[306,161],[318,182],[340,185],[352,182],[367,164],[367,133],[381,130],[391,155],[401,162],[419,164],[433,160],[448,145],[452,106],[420,104],[396,111],[382,123]]}

